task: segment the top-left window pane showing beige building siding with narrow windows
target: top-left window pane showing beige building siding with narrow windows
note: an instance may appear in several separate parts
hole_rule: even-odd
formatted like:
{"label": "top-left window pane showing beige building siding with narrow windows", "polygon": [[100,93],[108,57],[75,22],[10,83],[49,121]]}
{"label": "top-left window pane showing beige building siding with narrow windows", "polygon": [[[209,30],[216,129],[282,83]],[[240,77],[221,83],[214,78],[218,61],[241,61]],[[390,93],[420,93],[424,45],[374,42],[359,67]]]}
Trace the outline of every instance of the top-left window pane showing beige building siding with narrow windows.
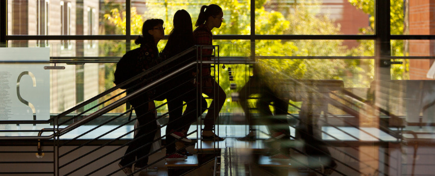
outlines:
{"label": "top-left window pane showing beige building siding with narrow windows", "polygon": [[[101,5],[101,6],[100,6]],[[11,0],[8,5],[8,35],[105,35],[122,34],[114,19],[125,21],[125,1]],[[111,20],[108,15],[112,14]]]}

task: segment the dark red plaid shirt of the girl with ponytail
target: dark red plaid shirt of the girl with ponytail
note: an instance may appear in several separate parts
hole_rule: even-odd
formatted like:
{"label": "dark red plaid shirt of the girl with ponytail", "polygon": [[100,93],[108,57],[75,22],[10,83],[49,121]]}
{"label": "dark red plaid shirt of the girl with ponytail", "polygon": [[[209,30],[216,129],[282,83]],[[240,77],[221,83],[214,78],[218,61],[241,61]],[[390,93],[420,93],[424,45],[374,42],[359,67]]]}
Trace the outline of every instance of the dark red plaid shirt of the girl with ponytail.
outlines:
{"label": "dark red plaid shirt of the girl with ponytail", "polygon": [[[213,45],[213,34],[212,31],[206,26],[206,24],[199,25],[193,31],[193,38],[195,40],[195,45]],[[211,55],[213,52],[212,49],[203,49],[203,55]],[[199,51],[198,51],[198,54]],[[203,61],[209,61],[210,57],[201,58]],[[210,66],[210,64],[204,64],[203,66]],[[210,68],[202,69],[202,76],[210,76]]]}

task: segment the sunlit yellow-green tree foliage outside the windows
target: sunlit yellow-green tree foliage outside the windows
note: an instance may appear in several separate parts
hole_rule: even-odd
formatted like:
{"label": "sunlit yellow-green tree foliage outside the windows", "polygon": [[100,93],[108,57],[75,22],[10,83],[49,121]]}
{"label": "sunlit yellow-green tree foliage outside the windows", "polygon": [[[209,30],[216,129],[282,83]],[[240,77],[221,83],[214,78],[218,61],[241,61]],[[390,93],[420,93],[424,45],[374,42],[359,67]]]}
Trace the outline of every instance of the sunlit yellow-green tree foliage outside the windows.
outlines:
{"label": "sunlit yellow-green tree foliage outside the windows", "polygon": [[[284,15],[282,12],[266,10],[264,7],[269,0],[256,0],[255,3],[255,33],[258,35],[335,35],[340,34],[340,25],[336,25],[328,15],[319,15],[320,1],[298,0],[291,13]],[[365,4],[373,3],[369,0],[350,0],[356,5],[361,4],[361,9],[372,10],[373,6]],[[185,0],[149,0],[146,2],[147,11],[138,14],[132,8],[132,34],[141,34],[142,23],[147,18],[161,18],[165,21],[165,34],[172,29],[173,14],[178,9],[186,9],[192,17],[192,23],[196,22],[199,9],[202,5],[210,3],[219,4],[224,13],[224,20],[220,28],[212,30],[213,34],[238,34],[248,35],[251,33],[250,0],[211,0],[206,3]],[[117,32],[125,34],[125,11],[121,8],[113,8],[104,15],[104,23],[111,24]],[[374,18],[373,18],[374,19]],[[372,27],[364,29],[372,32]],[[362,30],[362,31],[364,31]],[[403,30],[403,29],[402,29]],[[116,33],[117,33],[116,32]],[[165,41],[159,42],[158,48],[164,47]],[[121,46],[122,44],[119,44]],[[251,43],[246,40],[215,40],[214,45],[219,45],[220,56],[245,56],[251,54]],[[257,40],[255,41],[255,53],[257,56],[372,56],[372,43],[362,42],[353,50],[348,51],[343,46],[343,41],[334,40]],[[138,47],[132,45],[132,48]],[[124,50],[123,50],[124,49]],[[107,47],[107,53],[124,53],[125,48]],[[400,51],[398,51],[400,52]],[[373,63],[360,60],[340,59],[263,59],[258,60],[263,71],[271,76],[280,76],[284,79],[338,79],[344,80],[347,87],[364,87],[372,79]],[[110,69],[113,65],[106,65]],[[234,81],[228,79],[228,68],[233,68]],[[219,73],[219,84],[224,88],[227,97],[231,92],[229,84],[235,83],[239,88],[245,84],[252,75],[246,65],[226,65],[225,69],[215,68]],[[112,72],[106,72],[109,77]],[[110,81],[110,84],[112,80]],[[108,83],[106,88],[110,87]],[[210,102],[209,102],[210,103]],[[254,102],[251,102],[254,103]],[[229,112],[234,103],[227,99],[222,112]]]}

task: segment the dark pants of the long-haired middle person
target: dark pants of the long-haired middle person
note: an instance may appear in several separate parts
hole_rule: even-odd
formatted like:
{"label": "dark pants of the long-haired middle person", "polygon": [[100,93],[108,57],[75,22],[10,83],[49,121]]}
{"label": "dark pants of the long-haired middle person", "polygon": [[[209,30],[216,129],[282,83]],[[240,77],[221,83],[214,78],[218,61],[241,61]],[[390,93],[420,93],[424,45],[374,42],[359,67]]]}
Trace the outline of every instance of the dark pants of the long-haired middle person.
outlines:
{"label": "dark pants of the long-haired middle person", "polygon": [[[168,92],[167,98],[169,122],[166,127],[166,153],[175,152],[176,138],[169,135],[173,131],[189,130],[190,125],[197,120],[207,107],[207,101],[197,93],[196,87],[191,83],[185,83],[177,88],[176,91]],[[183,113],[183,101],[186,102],[186,109]],[[200,110],[200,103],[203,109]]]}

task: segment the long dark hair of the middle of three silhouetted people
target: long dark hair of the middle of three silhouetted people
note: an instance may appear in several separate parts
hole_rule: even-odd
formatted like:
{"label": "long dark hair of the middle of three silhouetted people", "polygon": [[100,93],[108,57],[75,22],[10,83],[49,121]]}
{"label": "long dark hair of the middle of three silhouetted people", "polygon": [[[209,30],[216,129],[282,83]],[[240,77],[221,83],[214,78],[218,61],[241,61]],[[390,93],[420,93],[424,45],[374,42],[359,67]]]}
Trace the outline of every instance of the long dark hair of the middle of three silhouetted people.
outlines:
{"label": "long dark hair of the middle of three silhouetted people", "polygon": [[192,47],[195,44],[192,30],[190,14],[184,9],[175,12],[174,28],[169,33],[168,41],[162,53],[167,53],[169,57],[172,57]]}

